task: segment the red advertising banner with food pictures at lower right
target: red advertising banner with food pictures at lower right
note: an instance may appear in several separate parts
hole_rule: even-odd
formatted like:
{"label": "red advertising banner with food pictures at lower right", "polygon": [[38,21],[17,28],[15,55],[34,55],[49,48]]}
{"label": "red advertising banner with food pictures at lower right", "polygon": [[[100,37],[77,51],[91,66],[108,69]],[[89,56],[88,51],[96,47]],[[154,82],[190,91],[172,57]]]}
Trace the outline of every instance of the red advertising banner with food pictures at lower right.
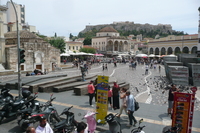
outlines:
{"label": "red advertising banner with food pictures at lower right", "polygon": [[[191,133],[189,132],[189,124],[192,121],[190,113],[192,107],[192,94],[189,93],[174,93],[174,106],[173,106],[173,117],[172,127],[182,127],[180,133]],[[191,131],[191,130],[190,130]]]}

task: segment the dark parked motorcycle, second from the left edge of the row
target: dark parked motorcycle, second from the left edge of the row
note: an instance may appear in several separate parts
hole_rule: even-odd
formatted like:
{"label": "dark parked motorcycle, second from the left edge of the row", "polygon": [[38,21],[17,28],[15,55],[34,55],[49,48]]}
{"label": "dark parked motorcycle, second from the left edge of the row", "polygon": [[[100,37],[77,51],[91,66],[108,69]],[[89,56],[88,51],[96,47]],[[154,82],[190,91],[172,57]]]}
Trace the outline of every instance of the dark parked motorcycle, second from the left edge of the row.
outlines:
{"label": "dark parked motorcycle, second from the left edge of the row", "polygon": [[29,117],[33,113],[39,113],[42,112],[40,102],[36,101],[35,99],[37,98],[37,93],[32,97],[32,100],[34,100],[34,105],[31,105],[30,107],[18,111],[18,125],[22,129],[22,131],[25,131],[27,127],[29,127],[30,123],[28,122]]}

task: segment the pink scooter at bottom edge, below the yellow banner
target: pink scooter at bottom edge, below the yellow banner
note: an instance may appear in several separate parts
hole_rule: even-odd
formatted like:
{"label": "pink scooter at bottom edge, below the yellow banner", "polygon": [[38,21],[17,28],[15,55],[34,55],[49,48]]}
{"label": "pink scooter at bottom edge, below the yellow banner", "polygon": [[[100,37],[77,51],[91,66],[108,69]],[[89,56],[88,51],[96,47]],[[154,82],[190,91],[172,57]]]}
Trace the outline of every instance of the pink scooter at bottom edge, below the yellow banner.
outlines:
{"label": "pink scooter at bottom edge, below the yellow banner", "polygon": [[97,113],[94,111],[87,111],[86,115],[84,116],[84,118],[87,119],[89,133],[94,133],[96,130],[96,119],[94,118],[95,114]]}

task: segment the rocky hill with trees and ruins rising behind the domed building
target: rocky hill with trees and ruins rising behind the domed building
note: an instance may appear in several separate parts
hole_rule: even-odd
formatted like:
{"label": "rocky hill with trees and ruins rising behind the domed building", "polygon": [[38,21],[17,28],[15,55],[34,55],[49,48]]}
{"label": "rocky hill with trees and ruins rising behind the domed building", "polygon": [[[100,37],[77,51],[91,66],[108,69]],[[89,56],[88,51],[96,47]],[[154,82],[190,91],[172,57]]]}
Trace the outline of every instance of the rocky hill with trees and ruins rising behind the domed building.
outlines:
{"label": "rocky hill with trees and ruins rising behind the domed building", "polygon": [[113,22],[112,24],[103,25],[89,25],[79,33],[79,37],[95,36],[96,32],[104,27],[112,27],[116,29],[121,36],[128,36],[130,34],[142,34],[143,37],[155,37],[157,34],[160,36],[167,36],[169,34],[182,35],[183,32],[175,31],[169,24],[135,24],[134,22]]}

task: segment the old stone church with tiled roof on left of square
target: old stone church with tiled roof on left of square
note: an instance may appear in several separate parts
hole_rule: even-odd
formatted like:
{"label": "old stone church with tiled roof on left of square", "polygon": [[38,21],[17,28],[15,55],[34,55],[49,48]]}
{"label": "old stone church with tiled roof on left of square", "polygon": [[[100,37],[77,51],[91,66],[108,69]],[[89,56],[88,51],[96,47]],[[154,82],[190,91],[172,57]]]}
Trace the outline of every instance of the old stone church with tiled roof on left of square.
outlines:
{"label": "old stone church with tiled roof on left of square", "polygon": [[[17,32],[7,32],[4,37],[4,66],[6,69],[17,71]],[[25,50],[26,60],[21,64],[21,71],[33,71],[34,69],[42,72],[53,71],[60,66],[60,50],[29,31],[20,31],[20,48]]]}

